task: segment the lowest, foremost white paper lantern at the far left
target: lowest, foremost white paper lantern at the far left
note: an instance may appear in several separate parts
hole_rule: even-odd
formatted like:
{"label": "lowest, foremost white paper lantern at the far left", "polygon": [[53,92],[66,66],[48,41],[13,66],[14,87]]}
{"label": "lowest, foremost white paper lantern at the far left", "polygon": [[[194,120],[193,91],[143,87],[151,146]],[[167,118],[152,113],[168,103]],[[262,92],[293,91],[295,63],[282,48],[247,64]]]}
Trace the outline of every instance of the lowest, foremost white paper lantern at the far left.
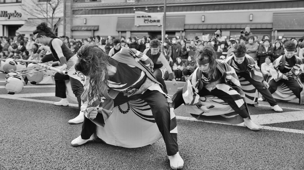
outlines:
{"label": "lowest, foremost white paper lantern at the far left", "polygon": [[12,76],[7,79],[5,82],[5,89],[8,94],[20,93],[23,89],[23,80],[20,77]]}

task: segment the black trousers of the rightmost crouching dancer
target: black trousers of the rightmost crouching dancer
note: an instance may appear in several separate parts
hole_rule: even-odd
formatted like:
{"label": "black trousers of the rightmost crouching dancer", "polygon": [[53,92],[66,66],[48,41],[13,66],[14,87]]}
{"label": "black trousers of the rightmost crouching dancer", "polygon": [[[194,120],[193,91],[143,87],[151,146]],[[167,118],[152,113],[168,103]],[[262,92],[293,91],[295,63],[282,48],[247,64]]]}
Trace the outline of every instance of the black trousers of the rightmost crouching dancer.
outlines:
{"label": "black trousers of the rightmost crouching dancer", "polygon": [[301,98],[300,93],[303,90],[303,88],[300,86],[299,82],[292,77],[289,77],[288,80],[285,79],[281,79],[279,81],[275,81],[274,79],[270,80],[269,82],[270,93],[271,94],[275,93],[275,91],[278,89],[278,85],[280,85],[281,83],[285,83],[286,86],[293,92],[293,94],[295,94],[295,96],[298,97],[298,99]]}

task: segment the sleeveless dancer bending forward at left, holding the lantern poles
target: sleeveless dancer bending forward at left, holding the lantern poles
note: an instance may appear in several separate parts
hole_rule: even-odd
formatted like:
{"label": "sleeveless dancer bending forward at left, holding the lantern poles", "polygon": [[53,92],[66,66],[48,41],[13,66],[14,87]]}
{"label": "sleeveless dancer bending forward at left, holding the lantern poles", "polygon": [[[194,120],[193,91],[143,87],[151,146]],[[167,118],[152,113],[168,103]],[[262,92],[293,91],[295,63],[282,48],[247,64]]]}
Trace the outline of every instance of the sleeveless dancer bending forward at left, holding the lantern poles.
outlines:
{"label": "sleeveless dancer bending forward at left, holding the lantern poles", "polygon": [[[77,62],[77,55],[74,54],[67,45],[61,41],[51,30],[50,27],[47,26],[47,23],[42,22],[39,24],[35,31],[33,31],[35,35],[35,39],[37,39],[42,45],[39,47],[35,56],[38,56],[40,51],[47,50],[52,52],[55,59],[59,60],[57,64],[53,64],[53,67],[56,65],[62,65],[61,71],[67,70],[68,74],[60,74],[56,73],[54,75],[55,79],[55,96],[60,97],[61,100],[59,102],[54,103],[57,106],[68,106],[69,102],[66,96],[66,87],[65,80],[70,80],[71,88],[73,93],[77,97],[78,106],[80,109],[81,106],[81,94],[84,91],[85,86],[85,76],[81,74],[79,71],[75,70],[75,64]],[[49,47],[47,47],[48,45]],[[83,112],[80,112],[77,117],[68,121],[71,124],[82,123],[84,119]]]}

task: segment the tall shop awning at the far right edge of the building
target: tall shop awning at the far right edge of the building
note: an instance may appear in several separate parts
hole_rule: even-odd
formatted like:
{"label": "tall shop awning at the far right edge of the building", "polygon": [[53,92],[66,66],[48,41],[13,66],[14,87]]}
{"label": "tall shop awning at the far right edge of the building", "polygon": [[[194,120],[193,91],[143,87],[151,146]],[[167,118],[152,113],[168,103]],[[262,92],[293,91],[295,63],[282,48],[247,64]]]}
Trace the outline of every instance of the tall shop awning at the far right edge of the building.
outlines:
{"label": "tall shop awning at the far right edge of the building", "polygon": [[273,13],[274,30],[304,30],[304,13]]}

